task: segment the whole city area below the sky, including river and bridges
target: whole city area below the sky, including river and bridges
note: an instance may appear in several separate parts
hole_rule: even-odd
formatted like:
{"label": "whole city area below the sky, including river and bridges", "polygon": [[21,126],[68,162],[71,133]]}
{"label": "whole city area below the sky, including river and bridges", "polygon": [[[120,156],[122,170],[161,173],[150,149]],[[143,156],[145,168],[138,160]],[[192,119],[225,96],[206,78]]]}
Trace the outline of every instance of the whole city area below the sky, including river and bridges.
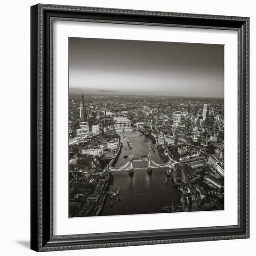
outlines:
{"label": "whole city area below the sky, including river and bridges", "polygon": [[223,99],[81,93],[69,107],[69,217],[224,209]]}

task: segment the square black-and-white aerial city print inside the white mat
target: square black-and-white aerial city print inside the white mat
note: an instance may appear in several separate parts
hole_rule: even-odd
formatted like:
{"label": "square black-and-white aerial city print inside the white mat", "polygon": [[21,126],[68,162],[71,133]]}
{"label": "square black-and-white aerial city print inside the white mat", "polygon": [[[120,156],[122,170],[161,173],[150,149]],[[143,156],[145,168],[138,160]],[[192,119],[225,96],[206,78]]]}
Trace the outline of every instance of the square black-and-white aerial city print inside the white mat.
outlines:
{"label": "square black-and-white aerial city print inside the white mat", "polygon": [[223,45],[69,38],[69,217],[224,210]]}

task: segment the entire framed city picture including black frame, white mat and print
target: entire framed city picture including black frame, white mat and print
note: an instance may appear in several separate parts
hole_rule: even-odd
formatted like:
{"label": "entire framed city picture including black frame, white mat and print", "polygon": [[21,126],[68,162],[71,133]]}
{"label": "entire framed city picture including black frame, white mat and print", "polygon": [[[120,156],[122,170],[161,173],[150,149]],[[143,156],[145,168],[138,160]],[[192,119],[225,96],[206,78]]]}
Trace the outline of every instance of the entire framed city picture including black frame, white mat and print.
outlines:
{"label": "entire framed city picture including black frame, white mat and print", "polygon": [[249,18],[31,7],[31,249],[249,237]]}

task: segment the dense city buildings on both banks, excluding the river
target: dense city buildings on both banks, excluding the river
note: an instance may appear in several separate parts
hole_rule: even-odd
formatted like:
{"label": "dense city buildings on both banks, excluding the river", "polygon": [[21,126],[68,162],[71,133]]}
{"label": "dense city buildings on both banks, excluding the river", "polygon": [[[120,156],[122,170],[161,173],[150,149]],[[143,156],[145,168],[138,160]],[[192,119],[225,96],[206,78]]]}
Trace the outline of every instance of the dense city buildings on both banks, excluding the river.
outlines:
{"label": "dense city buildings on both banks, excluding the river", "polygon": [[101,212],[111,182],[109,166],[122,145],[116,116],[148,136],[170,163],[165,179],[181,196],[162,211],[224,208],[223,99],[74,94],[69,101],[69,216]]}

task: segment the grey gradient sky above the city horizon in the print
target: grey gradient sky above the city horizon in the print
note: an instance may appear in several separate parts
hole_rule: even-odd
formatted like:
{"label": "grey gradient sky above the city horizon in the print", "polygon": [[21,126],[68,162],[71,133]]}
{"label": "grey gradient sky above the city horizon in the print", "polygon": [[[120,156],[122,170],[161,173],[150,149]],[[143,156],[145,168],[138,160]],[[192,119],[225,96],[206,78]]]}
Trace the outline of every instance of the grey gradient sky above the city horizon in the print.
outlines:
{"label": "grey gradient sky above the city horizon in the print", "polygon": [[224,97],[224,46],[69,38],[69,88],[85,93]]}

